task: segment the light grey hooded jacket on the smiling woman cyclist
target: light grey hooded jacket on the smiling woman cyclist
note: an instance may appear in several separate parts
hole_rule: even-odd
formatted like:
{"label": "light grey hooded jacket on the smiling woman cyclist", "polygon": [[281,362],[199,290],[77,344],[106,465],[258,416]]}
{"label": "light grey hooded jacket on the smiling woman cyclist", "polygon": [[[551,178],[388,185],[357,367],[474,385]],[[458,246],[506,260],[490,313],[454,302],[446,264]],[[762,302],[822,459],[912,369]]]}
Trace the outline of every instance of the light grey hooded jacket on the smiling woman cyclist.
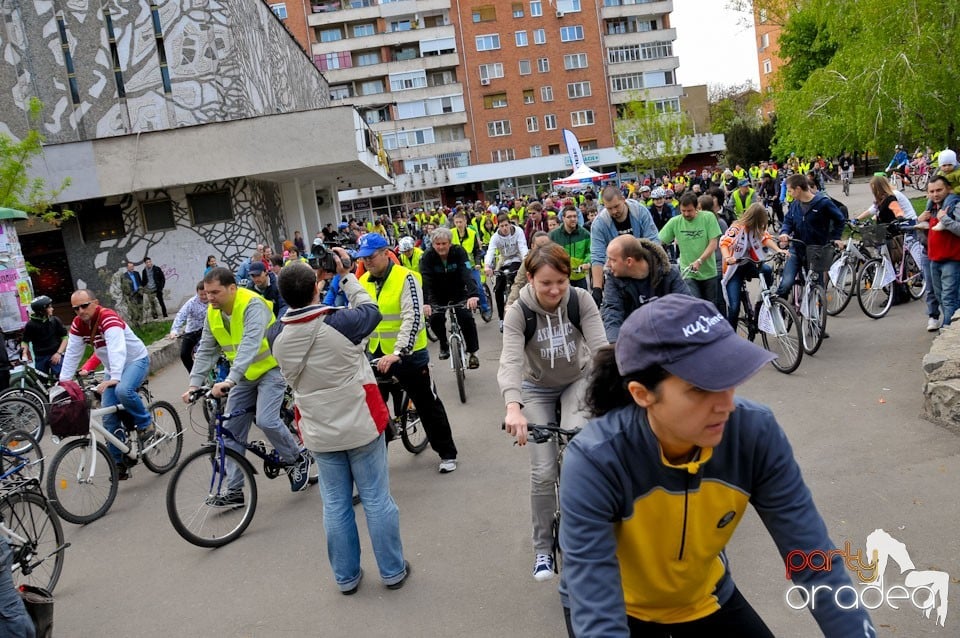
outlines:
{"label": "light grey hooded jacket on the smiling woman cyclist", "polygon": [[[580,330],[567,318],[570,295],[579,295]],[[553,312],[544,310],[533,286],[520,291],[520,300],[537,320],[533,338],[524,344],[523,309],[519,304],[507,308],[503,317],[503,349],[500,352],[500,370],[497,382],[505,404],[520,403],[522,383],[559,388],[570,385],[581,376],[589,363],[581,358],[582,346],[591,354],[607,345],[600,311],[586,290],[570,286],[560,305]],[[582,332],[581,332],[582,331]]]}

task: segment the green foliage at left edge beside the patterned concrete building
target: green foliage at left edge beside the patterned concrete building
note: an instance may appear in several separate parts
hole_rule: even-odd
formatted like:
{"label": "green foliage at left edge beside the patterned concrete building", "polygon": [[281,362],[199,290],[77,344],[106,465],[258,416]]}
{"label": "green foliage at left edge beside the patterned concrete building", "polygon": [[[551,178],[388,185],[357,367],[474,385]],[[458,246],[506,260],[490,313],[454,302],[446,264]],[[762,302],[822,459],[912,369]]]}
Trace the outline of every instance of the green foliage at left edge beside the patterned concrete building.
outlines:
{"label": "green foliage at left edge beside the patterned concrete building", "polygon": [[22,140],[0,133],[0,207],[22,210],[56,225],[73,214],[54,208],[54,201],[70,185],[70,180],[48,189],[42,178],[30,179],[27,175],[31,161],[43,151],[43,136],[38,130],[41,108],[40,100],[30,99],[31,126]]}

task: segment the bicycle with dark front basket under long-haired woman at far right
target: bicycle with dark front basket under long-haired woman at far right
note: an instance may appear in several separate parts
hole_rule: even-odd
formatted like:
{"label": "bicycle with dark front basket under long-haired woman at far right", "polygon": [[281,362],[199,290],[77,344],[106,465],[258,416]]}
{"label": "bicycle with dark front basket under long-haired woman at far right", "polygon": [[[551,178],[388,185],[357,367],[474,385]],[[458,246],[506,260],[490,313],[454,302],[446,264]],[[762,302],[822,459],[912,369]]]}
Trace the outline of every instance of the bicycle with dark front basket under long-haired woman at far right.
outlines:
{"label": "bicycle with dark front basket under long-haired woman at far right", "polygon": [[[896,226],[909,229],[909,225],[905,224]],[[868,260],[857,277],[857,302],[863,313],[871,319],[882,319],[890,311],[894,285],[906,286],[912,299],[921,299],[926,292],[923,271],[906,245],[900,249],[902,254],[898,263],[893,264],[887,245],[889,227],[890,224],[876,224],[861,230],[864,243],[880,249],[880,256]]]}

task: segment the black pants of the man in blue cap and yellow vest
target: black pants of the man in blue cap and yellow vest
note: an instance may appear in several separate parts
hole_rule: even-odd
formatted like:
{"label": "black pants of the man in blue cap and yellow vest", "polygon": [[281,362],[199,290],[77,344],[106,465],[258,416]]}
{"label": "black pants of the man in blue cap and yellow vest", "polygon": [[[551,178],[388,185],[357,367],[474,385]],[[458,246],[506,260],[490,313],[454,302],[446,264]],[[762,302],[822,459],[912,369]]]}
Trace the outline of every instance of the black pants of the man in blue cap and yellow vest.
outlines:
{"label": "black pants of the man in blue cap and yellow vest", "polygon": [[[379,350],[374,354],[375,358],[382,356],[383,353]],[[397,378],[403,389],[410,395],[410,400],[417,408],[417,414],[420,415],[423,430],[427,433],[427,439],[433,451],[440,455],[441,459],[455,459],[457,446],[453,443],[450,420],[430,379],[429,364],[430,355],[426,349],[423,349],[393,364],[390,374]]]}

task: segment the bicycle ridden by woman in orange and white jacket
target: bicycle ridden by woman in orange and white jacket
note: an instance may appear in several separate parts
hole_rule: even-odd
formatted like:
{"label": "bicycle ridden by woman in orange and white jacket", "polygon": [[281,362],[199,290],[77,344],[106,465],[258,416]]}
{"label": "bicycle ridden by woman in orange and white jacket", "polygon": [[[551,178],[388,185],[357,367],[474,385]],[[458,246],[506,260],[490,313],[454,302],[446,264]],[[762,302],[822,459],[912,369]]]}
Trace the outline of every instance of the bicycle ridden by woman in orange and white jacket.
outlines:
{"label": "bicycle ridden by woman in orange and white jacket", "polygon": [[[752,259],[740,259],[738,265],[753,264],[759,271],[763,262],[782,259],[774,254],[757,262]],[[740,282],[740,314],[737,317],[737,333],[747,341],[754,341],[757,335],[763,341],[763,347],[777,355],[770,364],[784,374],[791,374],[800,367],[803,360],[803,333],[801,322],[793,306],[777,296],[776,289],[767,284],[760,275],[760,299],[754,304],[747,290],[747,279]]]}

